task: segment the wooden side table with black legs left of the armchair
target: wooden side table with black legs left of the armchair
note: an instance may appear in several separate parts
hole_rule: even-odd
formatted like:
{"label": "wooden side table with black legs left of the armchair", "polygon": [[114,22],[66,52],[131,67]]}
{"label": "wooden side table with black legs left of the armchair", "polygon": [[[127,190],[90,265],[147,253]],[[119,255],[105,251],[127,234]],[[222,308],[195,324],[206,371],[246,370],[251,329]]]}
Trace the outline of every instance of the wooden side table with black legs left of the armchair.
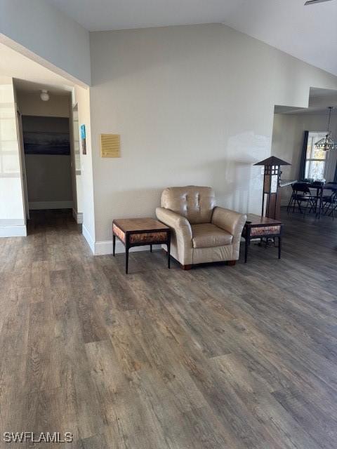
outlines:
{"label": "wooden side table with black legs left of the armchair", "polygon": [[167,266],[170,268],[171,229],[153,218],[120,218],[112,222],[113,255],[116,237],[125,246],[125,272],[128,274],[128,250],[133,246],[167,246]]}

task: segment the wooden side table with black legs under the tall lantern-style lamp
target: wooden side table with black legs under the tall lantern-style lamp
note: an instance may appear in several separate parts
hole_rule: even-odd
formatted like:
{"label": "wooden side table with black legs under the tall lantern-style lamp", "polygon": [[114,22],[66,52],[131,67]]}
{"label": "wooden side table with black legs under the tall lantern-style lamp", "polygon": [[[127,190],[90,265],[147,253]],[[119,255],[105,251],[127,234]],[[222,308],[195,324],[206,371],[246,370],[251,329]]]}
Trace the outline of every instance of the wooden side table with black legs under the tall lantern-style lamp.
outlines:
{"label": "wooden side table with black legs under the tall lantern-style lamp", "polygon": [[245,240],[244,246],[244,263],[247,262],[248,248],[251,244],[251,239],[279,239],[279,259],[281,259],[281,239],[282,239],[283,223],[272,218],[260,217],[253,213],[247,214],[246,224],[242,231],[242,236]]}

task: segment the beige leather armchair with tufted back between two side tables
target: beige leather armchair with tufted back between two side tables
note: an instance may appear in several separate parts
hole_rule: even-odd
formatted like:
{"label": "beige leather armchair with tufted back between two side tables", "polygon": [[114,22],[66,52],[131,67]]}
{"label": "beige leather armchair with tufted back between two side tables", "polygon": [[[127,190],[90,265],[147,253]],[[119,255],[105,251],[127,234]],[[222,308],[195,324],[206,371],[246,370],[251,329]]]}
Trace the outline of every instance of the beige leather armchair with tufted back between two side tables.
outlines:
{"label": "beige leather armchair with tufted back between two side tables", "polygon": [[193,264],[235,264],[246,215],[216,207],[211,187],[169,187],[161,194],[157,218],[171,227],[171,255],[190,269]]}

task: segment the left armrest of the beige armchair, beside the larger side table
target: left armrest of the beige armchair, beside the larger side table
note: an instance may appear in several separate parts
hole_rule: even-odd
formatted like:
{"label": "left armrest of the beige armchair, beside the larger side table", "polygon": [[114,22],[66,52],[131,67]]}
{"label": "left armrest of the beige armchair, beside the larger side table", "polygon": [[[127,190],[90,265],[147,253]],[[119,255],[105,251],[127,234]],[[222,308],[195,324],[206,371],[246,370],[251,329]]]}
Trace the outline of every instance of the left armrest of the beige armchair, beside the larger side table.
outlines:
{"label": "left armrest of the beige armchair, beside the larger side table", "polygon": [[177,246],[192,248],[192,228],[187,218],[165,208],[156,208],[158,220],[173,229],[176,234]]}

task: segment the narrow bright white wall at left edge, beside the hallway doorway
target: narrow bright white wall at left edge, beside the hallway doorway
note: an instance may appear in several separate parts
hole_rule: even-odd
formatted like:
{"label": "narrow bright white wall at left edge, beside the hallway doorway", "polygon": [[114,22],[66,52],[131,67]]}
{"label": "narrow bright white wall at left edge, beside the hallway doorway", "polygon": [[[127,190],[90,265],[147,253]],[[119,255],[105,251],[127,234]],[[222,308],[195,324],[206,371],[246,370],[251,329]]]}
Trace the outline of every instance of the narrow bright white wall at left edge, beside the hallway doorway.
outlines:
{"label": "narrow bright white wall at left edge, beside the hallway doorway", "polygon": [[26,235],[15,95],[11,78],[0,80],[0,237]]}

